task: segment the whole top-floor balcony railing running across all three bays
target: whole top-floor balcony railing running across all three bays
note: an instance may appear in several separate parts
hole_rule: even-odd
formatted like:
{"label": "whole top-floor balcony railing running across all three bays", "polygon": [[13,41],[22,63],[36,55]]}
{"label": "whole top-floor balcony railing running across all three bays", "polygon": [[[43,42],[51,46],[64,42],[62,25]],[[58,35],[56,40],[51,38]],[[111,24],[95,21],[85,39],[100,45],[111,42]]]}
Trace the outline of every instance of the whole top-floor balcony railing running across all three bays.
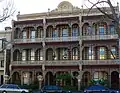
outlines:
{"label": "whole top-floor balcony railing running across all three bays", "polygon": [[[45,38],[45,42],[65,42],[65,41],[79,41],[82,40],[107,40],[107,39],[118,39],[118,35],[87,35],[87,36],[76,36],[76,37],[51,37]],[[43,38],[35,39],[14,39],[14,43],[38,43],[42,42]]]}

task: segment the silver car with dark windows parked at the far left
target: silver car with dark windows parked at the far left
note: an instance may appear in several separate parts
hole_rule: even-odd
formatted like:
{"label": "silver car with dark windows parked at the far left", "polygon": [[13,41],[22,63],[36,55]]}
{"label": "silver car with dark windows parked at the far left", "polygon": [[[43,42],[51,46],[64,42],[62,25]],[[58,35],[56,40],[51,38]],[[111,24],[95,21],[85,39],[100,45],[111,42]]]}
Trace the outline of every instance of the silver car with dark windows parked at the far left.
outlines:
{"label": "silver car with dark windows parked at the far left", "polygon": [[0,86],[0,93],[29,93],[29,90],[22,89],[16,84],[3,84]]}

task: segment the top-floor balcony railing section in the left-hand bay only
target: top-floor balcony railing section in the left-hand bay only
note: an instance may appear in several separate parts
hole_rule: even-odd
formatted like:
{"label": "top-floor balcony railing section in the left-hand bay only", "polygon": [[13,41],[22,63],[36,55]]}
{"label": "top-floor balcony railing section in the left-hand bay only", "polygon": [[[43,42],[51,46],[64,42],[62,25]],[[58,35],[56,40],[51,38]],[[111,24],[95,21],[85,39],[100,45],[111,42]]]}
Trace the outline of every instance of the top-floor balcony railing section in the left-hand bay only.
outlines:
{"label": "top-floor balcony railing section in the left-hand bay only", "polygon": [[14,43],[37,43],[42,42],[43,38],[34,38],[34,39],[14,39]]}

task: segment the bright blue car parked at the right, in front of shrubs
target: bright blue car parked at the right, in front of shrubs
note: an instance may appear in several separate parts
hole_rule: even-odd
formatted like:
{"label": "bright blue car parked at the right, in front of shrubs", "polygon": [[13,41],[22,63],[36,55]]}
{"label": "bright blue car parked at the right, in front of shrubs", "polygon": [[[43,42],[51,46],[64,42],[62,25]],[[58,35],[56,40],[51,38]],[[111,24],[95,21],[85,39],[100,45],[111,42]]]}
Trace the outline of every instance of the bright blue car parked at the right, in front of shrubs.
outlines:
{"label": "bright blue car parked at the right, in front of shrubs", "polygon": [[109,89],[101,85],[92,85],[86,88],[84,93],[119,93],[119,91]]}

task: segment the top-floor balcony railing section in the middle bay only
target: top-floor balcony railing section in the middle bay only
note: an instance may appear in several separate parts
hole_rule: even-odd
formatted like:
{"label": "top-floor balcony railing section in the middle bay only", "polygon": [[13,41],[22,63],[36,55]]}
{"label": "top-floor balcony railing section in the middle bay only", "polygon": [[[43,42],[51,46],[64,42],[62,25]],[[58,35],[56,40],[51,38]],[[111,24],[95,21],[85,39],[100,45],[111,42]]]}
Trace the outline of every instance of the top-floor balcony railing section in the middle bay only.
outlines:
{"label": "top-floor balcony railing section in the middle bay only", "polygon": [[79,41],[79,37],[52,37],[46,38],[45,42],[63,42],[63,41]]}

